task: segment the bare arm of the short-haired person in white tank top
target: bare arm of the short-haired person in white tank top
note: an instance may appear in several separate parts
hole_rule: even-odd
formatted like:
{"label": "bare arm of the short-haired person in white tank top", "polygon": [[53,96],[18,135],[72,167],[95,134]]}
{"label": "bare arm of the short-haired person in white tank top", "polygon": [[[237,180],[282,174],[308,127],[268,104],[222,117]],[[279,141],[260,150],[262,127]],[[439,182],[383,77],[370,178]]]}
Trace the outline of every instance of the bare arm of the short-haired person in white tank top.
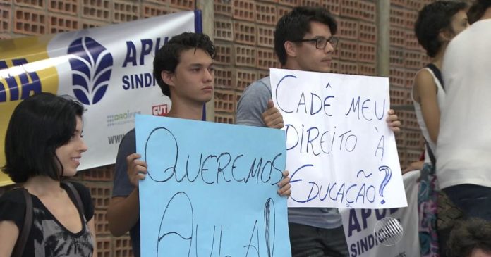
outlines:
{"label": "bare arm of the short-haired person in white tank top", "polygon": [[440,130],[440,108],[438,107],[437,85],[428,70],[423,69],[416,74],[413,96],[421,106],[421,113],[430,139],[436,144],[438,130]]}

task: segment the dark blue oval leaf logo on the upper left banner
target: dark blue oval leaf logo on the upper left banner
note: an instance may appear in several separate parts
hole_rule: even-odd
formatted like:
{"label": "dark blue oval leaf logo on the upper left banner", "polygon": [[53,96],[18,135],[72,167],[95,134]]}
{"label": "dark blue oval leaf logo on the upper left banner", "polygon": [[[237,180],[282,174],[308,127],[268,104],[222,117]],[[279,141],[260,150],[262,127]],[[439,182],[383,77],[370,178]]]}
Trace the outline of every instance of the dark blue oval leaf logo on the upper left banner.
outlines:
{"label": "dark blue oval leaf logo on the upper left banner", "polygon": [[83,104],[97,104],[111,78],[111,53],[94,39],[80,37],[70,44],[68,54],[72,55],[73,94]]}

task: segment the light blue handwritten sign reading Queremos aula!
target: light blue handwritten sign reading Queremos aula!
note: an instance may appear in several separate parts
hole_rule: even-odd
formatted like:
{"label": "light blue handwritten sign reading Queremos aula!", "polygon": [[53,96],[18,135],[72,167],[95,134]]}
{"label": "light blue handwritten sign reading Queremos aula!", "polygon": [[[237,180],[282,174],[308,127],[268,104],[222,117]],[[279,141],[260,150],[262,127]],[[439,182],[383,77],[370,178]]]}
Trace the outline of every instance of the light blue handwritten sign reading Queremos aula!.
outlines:
{"label": "light blue handwritten sign reading Queremos aula!", "polygon": [[142,256],[291,256],[284,132],[137,115]]}

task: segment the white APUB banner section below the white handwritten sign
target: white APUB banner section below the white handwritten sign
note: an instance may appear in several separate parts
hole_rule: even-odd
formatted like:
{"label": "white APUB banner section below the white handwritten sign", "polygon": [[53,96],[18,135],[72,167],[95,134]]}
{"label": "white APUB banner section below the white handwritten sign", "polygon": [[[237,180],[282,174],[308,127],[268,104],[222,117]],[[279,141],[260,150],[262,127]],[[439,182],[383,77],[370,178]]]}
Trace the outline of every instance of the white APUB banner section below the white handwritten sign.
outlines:
{"label": "white APUB banner section below the white handwritten sign", "polygon": [[[403,175],[408,207],[394,209],[339,209],[350,257],[420,257],[418,239],[418,177],[419,170]],[[385,218],[401,224],[396,240],[385,239],[377,230]],[[380,221],[382,220],[382,221]]]}

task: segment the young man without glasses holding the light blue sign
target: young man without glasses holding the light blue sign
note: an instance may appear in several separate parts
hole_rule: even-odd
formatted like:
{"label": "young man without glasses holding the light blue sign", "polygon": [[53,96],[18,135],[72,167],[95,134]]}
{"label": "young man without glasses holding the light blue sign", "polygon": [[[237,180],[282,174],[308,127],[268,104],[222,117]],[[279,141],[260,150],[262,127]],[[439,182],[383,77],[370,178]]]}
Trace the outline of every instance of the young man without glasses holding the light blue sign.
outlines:
{"label": "young man without glasses holding the light blue sign", "polygon": [[[203,106],[214,96],[214,45],[207,35],[184,32],[172,37],[154,58],[154,77],[162,93],[172,99],[169,117],[201,120]],[[281,123],[277,111],[268,115]],[[140,201],[138,182],[147,174],[147,163],[135,153],[135,130],[119,146],[113,198],[107,211],[109,230],[119,237],[130,232],[133,253],[140,256]],[[278,194],[289,196],[289,173],[279,182]]]}

